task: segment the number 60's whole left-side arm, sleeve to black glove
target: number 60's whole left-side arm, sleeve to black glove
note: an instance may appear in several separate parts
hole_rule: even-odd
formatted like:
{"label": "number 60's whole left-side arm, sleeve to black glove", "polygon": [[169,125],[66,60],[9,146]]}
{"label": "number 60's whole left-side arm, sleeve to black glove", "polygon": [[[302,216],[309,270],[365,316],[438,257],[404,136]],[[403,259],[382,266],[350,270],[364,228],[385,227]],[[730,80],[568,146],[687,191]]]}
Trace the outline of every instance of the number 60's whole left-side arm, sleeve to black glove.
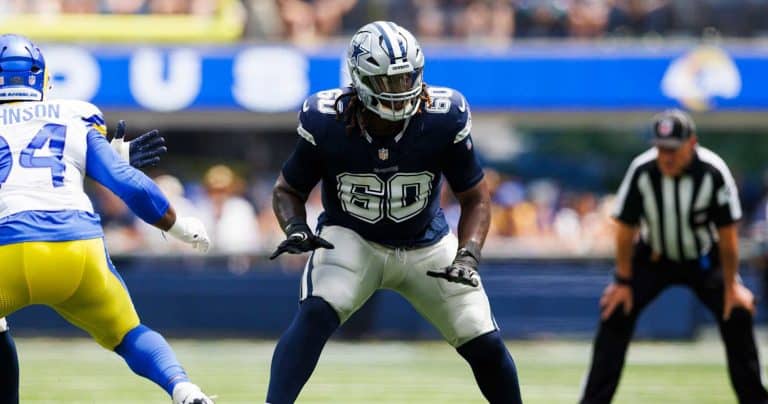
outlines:
{"label": "number 60's whole left-side arm, sleeve to black glove", "polygon": [[305,204],[312,188],[322,176],[322,160],[317,141],[310,132],[317,128],[311,125],[311,111],[299,114],[298,133],[300,138],[293,153],[283,164],[283,170],[272,190],[272,209],[286,239],[277,246],[269,259],[280,254],[301,254],[318,248],[333,248],[333,244],[318,237],[307,225]]}

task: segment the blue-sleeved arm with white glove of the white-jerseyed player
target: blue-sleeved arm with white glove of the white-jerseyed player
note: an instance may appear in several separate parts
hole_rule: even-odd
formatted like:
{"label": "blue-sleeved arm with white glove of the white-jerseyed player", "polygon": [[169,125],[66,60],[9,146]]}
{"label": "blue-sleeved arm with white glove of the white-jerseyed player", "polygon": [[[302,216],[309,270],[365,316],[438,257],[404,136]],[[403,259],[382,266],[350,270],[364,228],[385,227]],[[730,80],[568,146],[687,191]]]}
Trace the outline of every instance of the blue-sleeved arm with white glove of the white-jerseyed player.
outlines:
{"label": "blue-sleeved arm with white glove of the white-jerseyed player", "polygon": [[192,217],[176,217],[160,188],[122,160],[101,133],[90,130],[87,145],[86,175],[120,197],[143,221],[198,250],[208,251],[210,240],[202,223]]}

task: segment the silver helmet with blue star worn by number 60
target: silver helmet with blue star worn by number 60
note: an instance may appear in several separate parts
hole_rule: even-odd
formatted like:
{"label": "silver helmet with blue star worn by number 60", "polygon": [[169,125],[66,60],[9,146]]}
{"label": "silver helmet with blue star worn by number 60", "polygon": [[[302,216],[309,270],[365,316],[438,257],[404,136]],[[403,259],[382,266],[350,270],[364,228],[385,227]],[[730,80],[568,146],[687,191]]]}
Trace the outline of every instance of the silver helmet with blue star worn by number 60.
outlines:
{"label": "silver helmet with blue star worn by number 60", "polygon": [[419,110],[424,53],[405,28],[389,21],[360,28],[349,43],[347,67],[358,98],[381,118],[401,121]]}

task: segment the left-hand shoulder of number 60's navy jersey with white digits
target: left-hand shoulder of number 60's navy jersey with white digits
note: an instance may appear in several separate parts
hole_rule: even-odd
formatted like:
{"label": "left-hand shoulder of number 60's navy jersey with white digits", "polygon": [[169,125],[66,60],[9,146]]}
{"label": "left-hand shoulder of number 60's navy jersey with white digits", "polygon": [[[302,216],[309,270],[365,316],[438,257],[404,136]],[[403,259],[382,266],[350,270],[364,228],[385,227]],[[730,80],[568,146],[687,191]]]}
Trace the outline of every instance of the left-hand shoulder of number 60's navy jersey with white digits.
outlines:
{"label": "left-hand shoulder of number 60's navy jersey with white digits", "polygon": [[330,122],[336,121],[334,104],[343,93],[340,88],[320,91],[312,94],[304,100],[299,111],[299,126],[296,128],[299,136],[313,146],[322,137]]}

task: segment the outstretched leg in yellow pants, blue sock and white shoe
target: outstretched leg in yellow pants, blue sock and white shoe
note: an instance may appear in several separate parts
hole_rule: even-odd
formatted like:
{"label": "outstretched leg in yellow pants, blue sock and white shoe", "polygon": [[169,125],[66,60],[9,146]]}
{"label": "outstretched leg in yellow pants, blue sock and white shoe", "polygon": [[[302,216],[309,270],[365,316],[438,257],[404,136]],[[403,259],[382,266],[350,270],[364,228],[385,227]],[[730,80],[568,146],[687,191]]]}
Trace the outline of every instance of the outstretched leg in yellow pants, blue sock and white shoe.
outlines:
{"label": "outstretched leg in yellow pants, blue sock and white shoe", "polygon": [[76,243],[84,249],[79,287],[66,300],[52,307],[88,332],[101,346],[122,356],[134,373],[163,388],[174,402],[210,402],[189,382],[165,339],[139,322],[133,302],[102,240]]}

